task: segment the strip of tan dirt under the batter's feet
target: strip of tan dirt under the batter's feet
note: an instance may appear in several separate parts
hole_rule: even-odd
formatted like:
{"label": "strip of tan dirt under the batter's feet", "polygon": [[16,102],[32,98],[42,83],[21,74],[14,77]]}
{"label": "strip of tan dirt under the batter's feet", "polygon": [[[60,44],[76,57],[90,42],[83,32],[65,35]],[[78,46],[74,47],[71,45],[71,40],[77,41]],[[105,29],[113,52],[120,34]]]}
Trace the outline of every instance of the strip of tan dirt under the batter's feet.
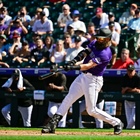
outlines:
{"label": "strip of tan dirt under the batter's feet", "polygon": [[[11,136],[39,136],[39,135],[114,135],[113,132],[64,132],[64,131],[56,131],[55,134],[41,134],[40,131],[32,131],[32,130],[0,130],[0,135],[11,135]],[[122,132],[122,136],[140,136],[140,133],[129,133]]]}

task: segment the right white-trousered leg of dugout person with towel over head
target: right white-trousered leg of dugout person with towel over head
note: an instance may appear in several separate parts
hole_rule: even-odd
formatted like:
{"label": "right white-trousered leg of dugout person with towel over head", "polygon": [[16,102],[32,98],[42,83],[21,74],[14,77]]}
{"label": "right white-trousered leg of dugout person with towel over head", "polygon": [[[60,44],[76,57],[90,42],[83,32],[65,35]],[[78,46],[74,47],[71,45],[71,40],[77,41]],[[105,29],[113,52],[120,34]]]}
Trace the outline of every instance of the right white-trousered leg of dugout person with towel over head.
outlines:
{"label": "right white-trousered leg of dugout person with towel over head", "polygon": [[31,127],[31,115],[32,115],[33,105],[29,107],[18,106],[18,111],[21,113],[23,119],[23,125],[26,127]]}

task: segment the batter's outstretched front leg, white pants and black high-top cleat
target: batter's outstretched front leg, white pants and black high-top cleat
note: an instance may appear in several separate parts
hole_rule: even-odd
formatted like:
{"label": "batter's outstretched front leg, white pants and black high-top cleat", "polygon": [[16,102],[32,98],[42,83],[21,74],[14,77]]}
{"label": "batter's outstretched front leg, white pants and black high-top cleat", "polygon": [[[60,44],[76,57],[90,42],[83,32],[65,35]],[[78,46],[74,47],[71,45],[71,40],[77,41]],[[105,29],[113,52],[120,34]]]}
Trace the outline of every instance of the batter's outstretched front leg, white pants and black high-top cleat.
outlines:
{"label": "batter's outstretched front leg, white pants and black high-top cleat", "polygon": [[79,75],[74,82],[71,84],[69,93],[62,101],[57,113],[50,119],[48,124],[42,129],[42,133],[55,133],[55,128],[58,122],[66,114],[70,106],[80,97],[83,96],[83,90],[81,82],[83,81],[82,75]]}

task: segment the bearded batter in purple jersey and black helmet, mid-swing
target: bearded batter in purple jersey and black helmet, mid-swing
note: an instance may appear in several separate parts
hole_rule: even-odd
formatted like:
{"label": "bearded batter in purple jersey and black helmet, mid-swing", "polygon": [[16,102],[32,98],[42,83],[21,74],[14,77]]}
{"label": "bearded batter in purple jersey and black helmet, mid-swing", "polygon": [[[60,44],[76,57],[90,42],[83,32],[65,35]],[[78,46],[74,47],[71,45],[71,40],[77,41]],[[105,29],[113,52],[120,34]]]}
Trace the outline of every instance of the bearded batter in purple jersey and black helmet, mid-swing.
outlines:
{"label": "bearded batter in purple jersey and black helmet, mid-swing", "polygon": [[[96,40],[81,51],[64,70],[81,70],[82,73],[73,81],[69,93],[64,98],[57,113],[41,130],[42,133],[55,133],[58,122],[68,111],[70,106],[83,95],[85,96],[86,110],[90,116],[103,120],[114,127],[114,134],[122,132],[123,123],[96,107],[98,93],[103,86],[103,73],[112,58],[109,47],[111,31],[107,28],[99,29]],[[84,59],[84,60],[83,60]],[[83,61],[81,61],[83,60]],[[81,63],[82,62],[82,63]]]}

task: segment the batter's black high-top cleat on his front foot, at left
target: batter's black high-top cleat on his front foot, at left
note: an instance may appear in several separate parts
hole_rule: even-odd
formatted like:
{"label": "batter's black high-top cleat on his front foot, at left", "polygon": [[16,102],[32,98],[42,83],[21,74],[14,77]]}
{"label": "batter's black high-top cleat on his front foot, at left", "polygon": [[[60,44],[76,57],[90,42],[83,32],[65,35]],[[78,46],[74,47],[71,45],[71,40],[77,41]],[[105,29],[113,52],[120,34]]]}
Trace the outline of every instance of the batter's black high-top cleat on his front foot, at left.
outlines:
{"label": "batter's black high-top cleat on his front foot, at left", "polygon": [[42,133],[55,133],[55,128],[57,127],[58,122],[62,119],[61,115],[55,114],[48,124],[43,127],[41,130]]}

